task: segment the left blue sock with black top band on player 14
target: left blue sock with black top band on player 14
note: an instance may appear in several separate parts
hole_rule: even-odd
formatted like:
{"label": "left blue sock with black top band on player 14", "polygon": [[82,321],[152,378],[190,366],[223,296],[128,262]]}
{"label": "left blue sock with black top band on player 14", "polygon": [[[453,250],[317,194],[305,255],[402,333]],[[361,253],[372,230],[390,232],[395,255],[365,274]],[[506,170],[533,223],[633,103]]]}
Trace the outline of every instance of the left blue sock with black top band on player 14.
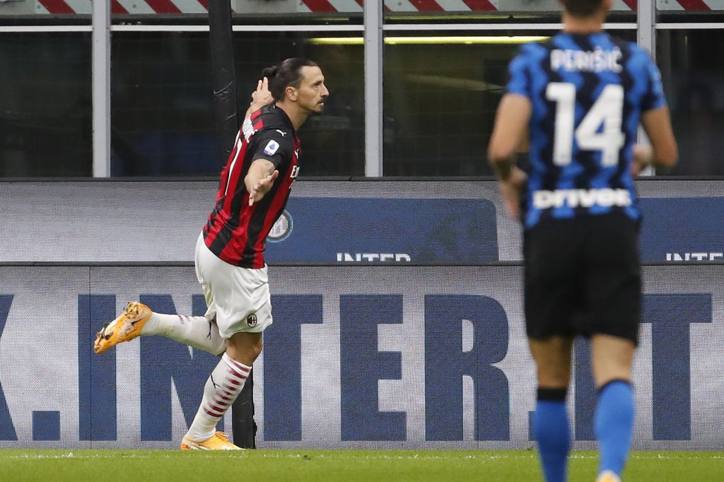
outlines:
{"label": "left blue sock with black top band on player 14", "polygon": [[547,482],[568,480],[571,434],[565,412],[565,389],[538,389],[533,431]]}

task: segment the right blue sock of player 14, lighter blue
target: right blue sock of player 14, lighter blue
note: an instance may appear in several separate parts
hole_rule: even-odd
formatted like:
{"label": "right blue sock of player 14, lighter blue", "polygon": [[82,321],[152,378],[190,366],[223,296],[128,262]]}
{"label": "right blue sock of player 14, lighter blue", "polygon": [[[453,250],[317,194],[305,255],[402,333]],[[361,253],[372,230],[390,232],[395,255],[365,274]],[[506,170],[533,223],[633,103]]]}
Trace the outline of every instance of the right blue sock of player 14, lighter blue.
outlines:
{"label": "right blue sock of player 14, lighter blue", "polygon": [[599,390],[594,427],[601,444],[599,473],[612,470],[620,476],[633,437],[633,390],[628,381],[610,381]]}

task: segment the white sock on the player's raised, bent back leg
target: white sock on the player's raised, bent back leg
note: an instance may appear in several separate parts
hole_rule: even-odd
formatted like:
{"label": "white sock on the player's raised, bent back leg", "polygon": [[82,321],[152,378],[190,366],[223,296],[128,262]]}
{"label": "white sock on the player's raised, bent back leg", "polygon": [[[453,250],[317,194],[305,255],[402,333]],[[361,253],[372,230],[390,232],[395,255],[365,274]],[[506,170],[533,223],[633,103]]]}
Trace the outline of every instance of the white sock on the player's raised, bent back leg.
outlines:
{"label": "white sock on the player's raised, bent back leg", "polygon": [[159,334],[213,355],[226,351],[226,340],[219,334],[215,323],[205,316],[180,316],[153,313],[143,325],[142,335]]}

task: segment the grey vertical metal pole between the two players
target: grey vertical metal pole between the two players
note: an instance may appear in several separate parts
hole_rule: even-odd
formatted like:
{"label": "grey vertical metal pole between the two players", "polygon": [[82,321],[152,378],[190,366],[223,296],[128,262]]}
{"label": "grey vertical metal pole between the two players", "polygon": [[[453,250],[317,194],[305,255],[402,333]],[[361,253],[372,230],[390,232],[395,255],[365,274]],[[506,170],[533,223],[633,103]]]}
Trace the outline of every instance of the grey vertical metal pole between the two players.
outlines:
{"label": "grey vertical metal pole between the two players", "polygon": [[382,1],[364,2],[365,168],[367,177],[382,177]]}

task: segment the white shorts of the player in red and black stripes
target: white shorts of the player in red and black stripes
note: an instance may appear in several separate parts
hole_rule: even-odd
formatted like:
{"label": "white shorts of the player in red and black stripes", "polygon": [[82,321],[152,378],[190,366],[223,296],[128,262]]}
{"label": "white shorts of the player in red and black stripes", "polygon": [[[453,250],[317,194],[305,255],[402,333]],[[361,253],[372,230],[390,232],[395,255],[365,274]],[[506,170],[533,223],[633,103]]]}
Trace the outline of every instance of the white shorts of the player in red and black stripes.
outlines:
{"label": "white shorts of the player in red and black stripes", "polygon": [[271,296],[266,266],[242,268],[222,261],[196,241],[196,278],[206,297],[206,319],[216,318],[219,334],[230,339],[240,331],[258,333],[271,325]]}

